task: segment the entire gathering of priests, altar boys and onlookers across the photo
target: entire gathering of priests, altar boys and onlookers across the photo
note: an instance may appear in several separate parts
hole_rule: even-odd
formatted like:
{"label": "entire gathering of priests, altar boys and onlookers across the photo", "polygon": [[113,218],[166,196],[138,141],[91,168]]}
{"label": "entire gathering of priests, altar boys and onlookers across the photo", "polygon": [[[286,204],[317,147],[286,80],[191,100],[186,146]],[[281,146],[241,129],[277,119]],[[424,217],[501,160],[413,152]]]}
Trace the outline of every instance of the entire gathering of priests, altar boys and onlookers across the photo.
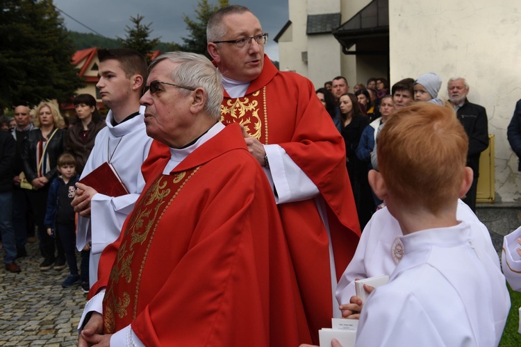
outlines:
{"label": "entire gathering of priests, altar boys and onlookers across the photo", "polygon": [[[68,264],[61,285],[88,292],[78,346],[317,345],[332,317],[360,319],[357,346],[497,345],[510,299],[474,214],[488,121],[465,79],[447,101],[433,73],[315,90],[274,67],[267,36],[226,6],[211,62],[99,49],[105,121],[88,94],[67,129],[53,103],[34,124],[15,108],[0,132],[7,271],[32,214],[40,270]],[[363,304],[354,280],[380,275]]]}

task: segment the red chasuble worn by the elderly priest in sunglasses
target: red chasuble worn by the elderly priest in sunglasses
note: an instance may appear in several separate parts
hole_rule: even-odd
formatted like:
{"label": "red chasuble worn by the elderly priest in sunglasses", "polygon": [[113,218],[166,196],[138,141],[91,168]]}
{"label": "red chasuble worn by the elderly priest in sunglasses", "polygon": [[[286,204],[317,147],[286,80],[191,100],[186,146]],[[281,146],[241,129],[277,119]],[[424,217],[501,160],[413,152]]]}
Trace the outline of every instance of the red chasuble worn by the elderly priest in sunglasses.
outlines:
{"label": "red chasuble worn by the elderly priest in sunglasses", "polygon": [[298,346],[311,341],[265,174],[226,126],[169,175],[163,153],[101,256],[104,331],[147,346]]}

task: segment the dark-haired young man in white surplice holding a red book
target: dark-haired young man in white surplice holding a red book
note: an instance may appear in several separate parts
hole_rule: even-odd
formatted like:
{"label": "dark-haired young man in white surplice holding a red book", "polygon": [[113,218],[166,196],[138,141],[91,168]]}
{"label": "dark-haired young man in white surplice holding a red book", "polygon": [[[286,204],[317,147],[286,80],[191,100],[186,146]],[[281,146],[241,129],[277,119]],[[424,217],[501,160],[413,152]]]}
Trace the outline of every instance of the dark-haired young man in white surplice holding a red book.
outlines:
{"label": "dark-haired young man in white surplice holding a red book", "polygon": [[[126,217],[144,187],[141,165],[147,158],[151,137],[144,126],[144,107],[140,107],[141,91],[147,79],[147,60],[133,49],[100,49],[99,94],[110,108],[106,124],[96,136],[94,148],[81,178],[104,162],[113,165],[129,194],[106,196],[92,187],[78,183],[72,202],[79,212],[76,247],[90,248],[89,277],[97,280],[101,251],[119,237]],[[80,179],[81,179],[80,178]]]}

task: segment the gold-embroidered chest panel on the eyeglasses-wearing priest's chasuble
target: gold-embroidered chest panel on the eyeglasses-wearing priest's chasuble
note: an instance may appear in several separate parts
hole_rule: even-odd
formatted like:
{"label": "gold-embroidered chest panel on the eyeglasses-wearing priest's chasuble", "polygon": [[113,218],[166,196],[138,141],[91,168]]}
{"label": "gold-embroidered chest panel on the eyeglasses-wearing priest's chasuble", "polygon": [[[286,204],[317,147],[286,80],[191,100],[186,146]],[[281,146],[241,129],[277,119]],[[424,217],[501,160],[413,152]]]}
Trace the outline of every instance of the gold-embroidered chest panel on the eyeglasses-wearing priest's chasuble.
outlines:
{"label": "gold-embroidered chest panel on the eyeglasses-wearing priest's chasuble", "polygon": [[268,144],[266,87],[242,98],[228,99],[226,105],[222,103],[221,121],[226,124],[238,123],[245,127],[251,137]]}

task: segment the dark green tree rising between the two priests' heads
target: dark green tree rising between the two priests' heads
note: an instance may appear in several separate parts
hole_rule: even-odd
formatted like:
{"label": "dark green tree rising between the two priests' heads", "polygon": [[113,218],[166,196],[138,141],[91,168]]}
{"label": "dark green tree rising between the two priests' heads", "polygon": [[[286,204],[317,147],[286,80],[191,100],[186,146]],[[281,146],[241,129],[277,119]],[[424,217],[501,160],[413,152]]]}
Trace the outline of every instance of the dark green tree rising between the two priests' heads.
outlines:
{"label": "dark green tree rising between the two priests' heads", "polygon": [[208,19],[216,10],[224,6],[228,6],[228,0],[218,0],[217,5],[210,5],[208,0],[200,0],[195,9],[195,19],[190,19],[188,15],[183,15],[183,21],[186,23],[186,28],[190,31],[188,37],[181,37],[183,44],[181,49],[183,51],[204,54],[208,58],[208,51],[206,51],[206,23]]}

